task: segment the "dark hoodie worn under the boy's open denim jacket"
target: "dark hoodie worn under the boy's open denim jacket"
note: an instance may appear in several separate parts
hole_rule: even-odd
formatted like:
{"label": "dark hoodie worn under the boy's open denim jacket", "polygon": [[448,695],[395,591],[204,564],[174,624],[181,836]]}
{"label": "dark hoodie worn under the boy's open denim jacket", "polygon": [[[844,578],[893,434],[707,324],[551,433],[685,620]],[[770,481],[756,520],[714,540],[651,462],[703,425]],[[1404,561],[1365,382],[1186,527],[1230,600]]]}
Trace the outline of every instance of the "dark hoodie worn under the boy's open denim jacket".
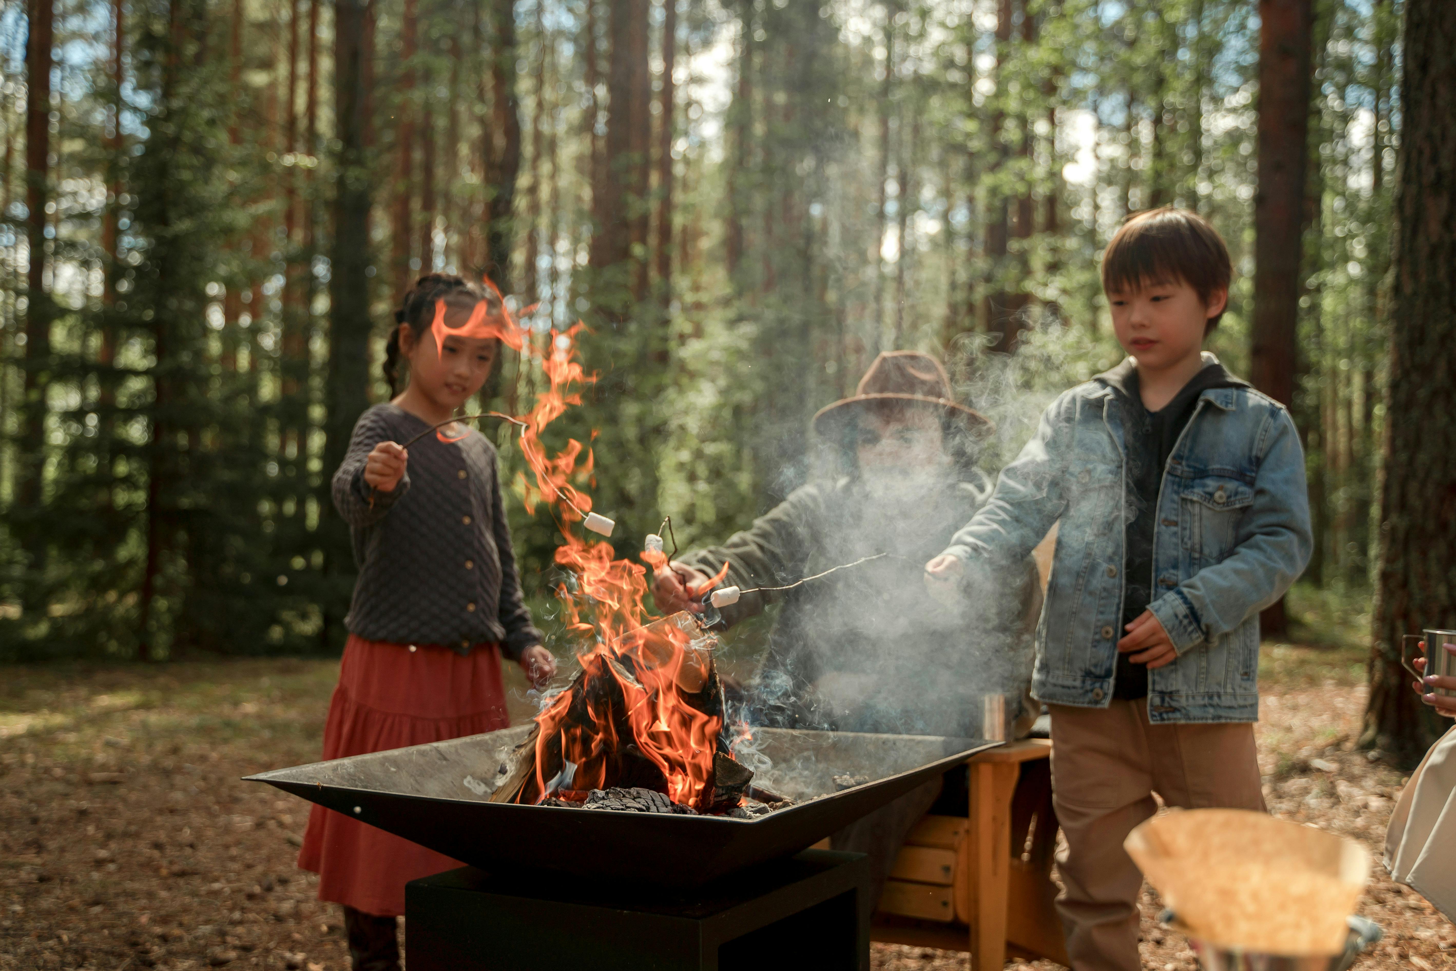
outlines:
{"label": "dark hoodie worn under the boy's open denim jacket", "polygon": [[[1123,559],[1123,625],[1133,623],[1152,603],[1153,592],[1153,534],[1158,527],[1155,510],[1158,489],[1168,469],[1168,459],[1194,411],[1198,396],[1211,387],[1249,387],[1229,374],[1219,358],[1204,352],[1203,370],[1182,386],[1168,405],[1150,412],[1143,406],[1137,367],[1127,358],[1111,371],[1098,374],[1095,381],[1111,387],[1123,406],[1123,428],[1127,437],[1127,494],[1133,517],[1127,523]],[[1117,655],[1117,677],[1112,697],[1136,700],[1147,697],[1147,665],[1133,664],[1125,654]]]}

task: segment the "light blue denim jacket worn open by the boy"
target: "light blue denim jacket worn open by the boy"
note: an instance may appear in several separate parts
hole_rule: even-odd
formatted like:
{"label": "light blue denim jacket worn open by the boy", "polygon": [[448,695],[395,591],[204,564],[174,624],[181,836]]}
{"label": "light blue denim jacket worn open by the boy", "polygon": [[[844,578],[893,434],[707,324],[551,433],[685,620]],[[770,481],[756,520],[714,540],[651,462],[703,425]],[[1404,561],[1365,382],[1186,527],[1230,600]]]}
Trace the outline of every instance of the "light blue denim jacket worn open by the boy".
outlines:
{"label": "light blue denim jacket worn open by the boy", "polygon": [[[1107,708],[1112,697],[1130,512],[1114,395],[1093,380],[1053,402],[945,550],[976,582],[1060,524],[1032,674],[1032,693],[1053,705]],[[1289,590],[1313,544],[1289,412],[1246,387],[1203,392],[1163,470],[1156,515],[1149,610],[1178,658],[1149,671],[1149,719],[1258,721],[1259,610]]]}

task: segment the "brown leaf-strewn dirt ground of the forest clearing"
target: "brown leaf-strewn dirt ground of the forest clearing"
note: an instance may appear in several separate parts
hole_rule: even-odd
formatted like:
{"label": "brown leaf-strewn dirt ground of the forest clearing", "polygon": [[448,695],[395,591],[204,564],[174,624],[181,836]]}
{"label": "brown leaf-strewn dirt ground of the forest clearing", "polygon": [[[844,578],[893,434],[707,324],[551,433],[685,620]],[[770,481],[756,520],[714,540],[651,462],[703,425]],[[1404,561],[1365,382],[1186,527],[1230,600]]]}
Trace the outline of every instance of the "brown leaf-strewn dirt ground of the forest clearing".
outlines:
{"label": "brown leaf-strewn dirt ground of the forest clearing", "polygon": [[[1267,646],[1264,667],[1270,808],[1377,853],[1404,777],[1354,750],[1357,658]],[[328,661],[0,668],[0,971],[347,968],[338,908],[294,866],[306,804],[239,782],[317,758],[335,673]],[[1456,927],[1383,876],[1377,865],[1361,913],[1386,939],[1357,967],[1449,967]],[[1158,911],[1149,892],[1144,967],[1194,968]],[[968,967],[965,954],[891,945],[872,962]]]}

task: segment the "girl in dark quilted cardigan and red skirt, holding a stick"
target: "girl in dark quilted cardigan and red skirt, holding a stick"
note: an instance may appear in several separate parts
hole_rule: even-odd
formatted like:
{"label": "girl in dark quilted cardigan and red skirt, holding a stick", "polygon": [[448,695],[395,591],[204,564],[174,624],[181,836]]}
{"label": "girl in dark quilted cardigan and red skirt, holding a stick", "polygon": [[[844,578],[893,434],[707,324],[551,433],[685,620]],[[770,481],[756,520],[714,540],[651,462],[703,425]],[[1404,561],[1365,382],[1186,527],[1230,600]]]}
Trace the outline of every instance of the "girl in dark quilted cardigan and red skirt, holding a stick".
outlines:
{"label": "girl in dark quilted cardigan and red skirt, holding a stick", "polygon": [[[325,758],[507,728],[501,655],[537,686],[556,673],[521,600],[495,448],[464,427],[448,429],[451,441],[425,435],[408,454],[399,445],[447,421],[489,377],[499,339],[466,336],[480,333],[470,325],[482,301],[486,319],[501,313],[495,293],[443,274],[405,294],[384,377],[393,392],[405,361],[409,384],[360,416],[333,473],[360,576]],[[459,863],[313,806],[298,866],[319,873],[319,900],[344,904],[355,971],[396,971],[405,884]]]}

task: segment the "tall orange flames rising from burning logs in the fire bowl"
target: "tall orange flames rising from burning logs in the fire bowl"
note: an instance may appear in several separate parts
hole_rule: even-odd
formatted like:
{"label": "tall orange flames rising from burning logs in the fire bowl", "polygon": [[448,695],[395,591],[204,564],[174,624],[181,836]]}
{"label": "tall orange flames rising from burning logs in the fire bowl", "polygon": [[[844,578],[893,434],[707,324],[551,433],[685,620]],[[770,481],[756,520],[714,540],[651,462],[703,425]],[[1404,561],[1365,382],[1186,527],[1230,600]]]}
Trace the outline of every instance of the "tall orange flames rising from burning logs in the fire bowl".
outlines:
{"label": "tall orange flames rising from burning logs in the fire bowl", "polygon": [[547,776],[550,767],[575,764],[569,789],[581,792],[619,785],[625,760],[638,760],[651,766],[639,769],[655,770],[665,780],[670,799],[708,808],[722,715],[699,708],[716,681],[708,684],[706,654],[692,643],[696,625],[684,630],[671,619],[648,623],[646,568],[613,559],[610,543],[590,542],[572,526],[591,511],[591,496],[579,488],[591,476],[591,450],[569,440],[547,454],[540,440],[568,406],[581,403],[582,386],[594,380],[575,360],[581,329],[577,323],[565,332],[552,330],[546,348],[530,355],[540,361],[549,387],[523,416],[520,435],[531,476],[521,475],[517,486],[529,511],[543,502],[552,507],[562,534],[555,559],[574,575],[574,582],[558,590],[566,627],[596,638],[578,657],[585,677],[536,716],[534,798],[550,795],[553,782],[566,788],[565,779]]}

